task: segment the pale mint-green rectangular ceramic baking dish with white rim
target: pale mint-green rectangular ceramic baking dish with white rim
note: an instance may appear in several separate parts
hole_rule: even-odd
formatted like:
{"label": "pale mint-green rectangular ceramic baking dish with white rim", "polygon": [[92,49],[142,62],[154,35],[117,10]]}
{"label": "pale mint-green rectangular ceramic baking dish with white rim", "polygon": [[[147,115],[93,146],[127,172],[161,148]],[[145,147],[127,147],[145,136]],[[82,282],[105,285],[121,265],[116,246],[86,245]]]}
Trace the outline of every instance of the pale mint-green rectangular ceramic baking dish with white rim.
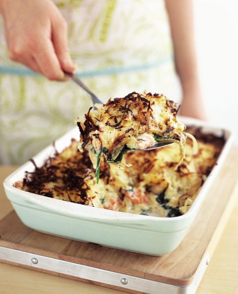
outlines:
{"label": "pale mint-green rectangular ceramic baking dish with white rim", "polygon": [[[24,178],[25,171],[34,171],[31,161],[5,179],[6,195],[21,221],[37,231],[143,254],[168,254],[183,240],[234,139],[229,130],[196,119],[180,117],[180,120],[187,126],[201,127],[205,133],[224,135],[225,138],[217,165],[213,167],[191,208],[181,216],[161,218],[129,214],[43,197],[13,187],[13,183]],[[65,134],[55,142],[55,147],[48,146],[33,158],[36,165],[41,166],[46,158],[54,154],[55,148],[61,152],[70,145],[72,138],[78,140],[79,136],[78,128]]]}

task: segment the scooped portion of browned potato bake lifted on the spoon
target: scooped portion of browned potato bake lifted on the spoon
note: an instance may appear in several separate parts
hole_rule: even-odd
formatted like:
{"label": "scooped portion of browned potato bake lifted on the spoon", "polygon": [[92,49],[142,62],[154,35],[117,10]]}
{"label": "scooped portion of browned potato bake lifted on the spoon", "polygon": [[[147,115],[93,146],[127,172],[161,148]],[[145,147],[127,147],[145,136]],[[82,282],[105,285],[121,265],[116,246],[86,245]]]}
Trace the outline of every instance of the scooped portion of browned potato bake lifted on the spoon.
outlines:
{"label": "scooped portion of browned potato bake lifted on the spoon", "polygon": [[196,149],[195,138],[177,119],[176,103],[162,94],[133,92],[96,107],[91,107],[77,125],[81,132],[79,150],[88,149],[98,178],[102,155],[109,163],[128,166],[123,158],[127,151],[143,150],[156,142],[175,142],[181,153],[177,169],[185,157],[186,137],[193,140]]}

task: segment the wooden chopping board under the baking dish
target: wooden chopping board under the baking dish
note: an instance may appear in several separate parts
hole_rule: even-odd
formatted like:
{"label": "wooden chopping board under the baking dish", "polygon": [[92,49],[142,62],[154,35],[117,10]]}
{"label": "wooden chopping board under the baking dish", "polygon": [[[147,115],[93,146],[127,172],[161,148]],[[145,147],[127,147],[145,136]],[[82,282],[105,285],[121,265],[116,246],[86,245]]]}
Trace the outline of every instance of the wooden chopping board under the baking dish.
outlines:
{"label": "wooden chopping board under the baking dish", "polygon": [[[131,253],[39,233],[25,227],[14,211],[0,221],[0,246],[154,281],[189,285],[196,278],[205,254],[212,255],[238,195],[238,186],[235,186],[238,178],[236,154],[237,149],[232,149],[228,154],[200,213],[182,243],[174,252],[163,257]],[[124,288],[73,276],[48,273],[125,291]],[[133,290],[128,292],[139,293]]]}

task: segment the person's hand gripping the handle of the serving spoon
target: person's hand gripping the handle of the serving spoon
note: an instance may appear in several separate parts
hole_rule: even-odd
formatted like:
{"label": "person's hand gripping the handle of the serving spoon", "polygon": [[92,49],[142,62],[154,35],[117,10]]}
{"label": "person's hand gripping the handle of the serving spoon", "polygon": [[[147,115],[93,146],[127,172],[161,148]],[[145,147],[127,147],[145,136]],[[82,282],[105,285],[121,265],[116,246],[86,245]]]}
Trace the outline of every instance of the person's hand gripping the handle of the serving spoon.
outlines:
{"label": "person's hand gripping the handle of the serving spoon", "polygon": [[49,80],[64,80],[74,72],[67,24],[51,0],[1,0],[9,58]]}

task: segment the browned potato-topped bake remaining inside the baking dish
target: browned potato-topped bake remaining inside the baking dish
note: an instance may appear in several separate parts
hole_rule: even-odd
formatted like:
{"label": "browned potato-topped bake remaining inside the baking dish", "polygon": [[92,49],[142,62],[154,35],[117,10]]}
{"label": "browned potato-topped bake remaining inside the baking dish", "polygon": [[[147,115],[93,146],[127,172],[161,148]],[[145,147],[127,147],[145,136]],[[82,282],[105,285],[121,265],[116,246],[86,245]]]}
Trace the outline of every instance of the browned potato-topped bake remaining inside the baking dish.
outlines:
{"label": "browned potato-topped bake remaining inside the baking dish", "polygon": [[[196,136],[198,152],[193,154],[192,140],[186,139],[186,157],[179,161],[179,145],[151,151],[129,151],[124,156],[132,166],[100,161],[100,179],[95,179],[88,151],[80,152],[72,139],[69,147],[55,152],[41,167],[25,173],[16,188],[46,197],[83,205],[157,217],[175,217],[186,213],[203,182],[216,164],[223,138],[188,128]],[[34,162],[33,162],[34,163]]]}

